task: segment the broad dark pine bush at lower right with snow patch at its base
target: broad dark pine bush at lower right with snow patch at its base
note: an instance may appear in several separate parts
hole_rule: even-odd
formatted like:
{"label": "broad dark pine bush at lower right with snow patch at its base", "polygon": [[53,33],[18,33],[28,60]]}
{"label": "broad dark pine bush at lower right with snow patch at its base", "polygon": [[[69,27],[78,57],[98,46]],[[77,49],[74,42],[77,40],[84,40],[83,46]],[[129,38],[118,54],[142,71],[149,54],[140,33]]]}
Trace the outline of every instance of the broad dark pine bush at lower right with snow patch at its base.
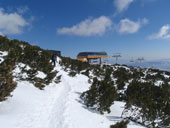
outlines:
{"label": "broad dark pine bush at lower right with snow patch at its base", "polygon": [[152,128],[168,127],[167,122],[170,121],[169,94],[170,85],[167,82],[161,86],[155,86],[153,82],[141,83],[133,80],[125,92],[127,102],[123,116]]}

